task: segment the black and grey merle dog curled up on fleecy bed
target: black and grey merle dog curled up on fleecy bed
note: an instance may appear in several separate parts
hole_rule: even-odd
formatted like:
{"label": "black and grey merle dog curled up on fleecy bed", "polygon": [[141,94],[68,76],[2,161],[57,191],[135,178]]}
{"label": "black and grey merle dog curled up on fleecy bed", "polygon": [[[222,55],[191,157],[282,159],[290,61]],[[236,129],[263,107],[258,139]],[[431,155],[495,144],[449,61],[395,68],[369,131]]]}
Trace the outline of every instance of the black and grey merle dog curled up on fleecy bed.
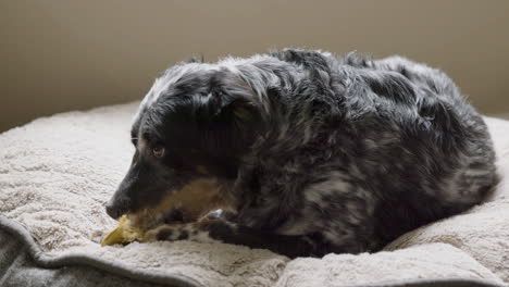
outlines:
{"label": "black and grey merle dog curled up on fleecy bed", "polygon": [[158,213],[154,240],[291,258],[376,251],[497,183],[483,118],[443,72],[399,57],[286,49],[181,63],[145,97],[132,137],[108,214]]}

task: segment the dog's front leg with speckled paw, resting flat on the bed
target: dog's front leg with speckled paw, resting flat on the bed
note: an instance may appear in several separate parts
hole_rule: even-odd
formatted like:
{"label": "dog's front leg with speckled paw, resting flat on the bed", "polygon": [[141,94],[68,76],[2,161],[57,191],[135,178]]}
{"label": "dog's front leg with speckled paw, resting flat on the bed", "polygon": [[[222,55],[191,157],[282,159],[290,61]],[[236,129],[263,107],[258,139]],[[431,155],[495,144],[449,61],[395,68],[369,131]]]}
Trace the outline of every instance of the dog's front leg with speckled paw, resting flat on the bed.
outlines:
{"label": "dog's front leg with speckled paw, resting flat on the bed", "polygon": [[146,241],[154,240],[221,241],[250,248],[269,249],[289,258],[321,255],[324,253],[323,246],[318,244],[320,240],[316,240],[313,236],[277,235],[216,219],[159,226],[146,234]]}

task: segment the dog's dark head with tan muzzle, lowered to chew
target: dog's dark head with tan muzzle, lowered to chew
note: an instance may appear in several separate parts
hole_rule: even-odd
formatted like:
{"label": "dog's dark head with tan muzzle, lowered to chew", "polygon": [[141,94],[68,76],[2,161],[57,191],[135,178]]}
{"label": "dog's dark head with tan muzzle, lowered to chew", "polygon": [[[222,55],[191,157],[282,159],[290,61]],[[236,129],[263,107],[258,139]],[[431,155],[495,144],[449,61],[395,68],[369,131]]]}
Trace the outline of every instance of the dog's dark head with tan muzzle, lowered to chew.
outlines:
{"label": "dog's dark head with tan muzzle, lowered to chew", "polygon": [[260,129],[258,99],[232,72],[187,65],[158,79],[139,108],[131,167],[107,204],[114,219],[228,204],[222,183],[235,179]]}

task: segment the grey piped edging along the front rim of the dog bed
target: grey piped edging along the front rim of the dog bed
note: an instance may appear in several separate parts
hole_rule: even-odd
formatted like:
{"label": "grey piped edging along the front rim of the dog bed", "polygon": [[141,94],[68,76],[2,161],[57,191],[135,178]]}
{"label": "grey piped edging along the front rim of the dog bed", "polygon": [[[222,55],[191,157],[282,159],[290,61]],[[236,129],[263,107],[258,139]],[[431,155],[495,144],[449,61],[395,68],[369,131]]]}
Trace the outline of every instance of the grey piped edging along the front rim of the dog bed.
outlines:
{"label": "grey piped edging along the front rim of the dog bed", "polygon": [[[28,255],[37,267],[45,270],[55,270],[65,266],[80,266],[80,267],[94,267],[101,272],[111,273],[113,275],[124,277],[127,279],[159,284],[165,286],[176,287],[201,287],[198,282],[193,278],[167,273],[147,272],[142,270],[136,270],[134,267],[124,265],[122,263],[104,260],[98,257],[83,253],[66,254],[60,257],[48,257],[37,246],[34,238],[18,223],[0,215],[0,230],[7,232],[12,235],[12,240],[17,240],[26,249]],[[2,262],[0,262],[0,265]],[[2,276],[0,275],[0,283]],[[375,285],[355,285],[350,287],[495,287],[502,286],[494,284],[491,280],[481,279],[465,279],[465,278],[440,278],[440,279],[415,279],[405,282],[390,282],[390,283],[378,283]]]}

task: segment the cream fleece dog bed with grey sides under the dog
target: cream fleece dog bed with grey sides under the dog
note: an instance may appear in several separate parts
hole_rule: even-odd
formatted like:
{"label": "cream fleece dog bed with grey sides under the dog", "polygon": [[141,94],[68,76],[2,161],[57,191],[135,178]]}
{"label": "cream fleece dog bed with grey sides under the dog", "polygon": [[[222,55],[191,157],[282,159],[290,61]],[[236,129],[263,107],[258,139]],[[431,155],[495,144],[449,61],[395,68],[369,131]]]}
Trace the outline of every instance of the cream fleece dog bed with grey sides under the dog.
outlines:
{"label": "cream fleece dog bed with grey sides under the dog", "polygon": [[[462,214],[376,253],[289,260],[225,244],[100,247],[128,169],[137,103],[38,118],[0,135],[0,286],[502,286],[509,283],[509,122],[486,118],[502,177]],[[72,283],[72,284],[70,284]]]}

